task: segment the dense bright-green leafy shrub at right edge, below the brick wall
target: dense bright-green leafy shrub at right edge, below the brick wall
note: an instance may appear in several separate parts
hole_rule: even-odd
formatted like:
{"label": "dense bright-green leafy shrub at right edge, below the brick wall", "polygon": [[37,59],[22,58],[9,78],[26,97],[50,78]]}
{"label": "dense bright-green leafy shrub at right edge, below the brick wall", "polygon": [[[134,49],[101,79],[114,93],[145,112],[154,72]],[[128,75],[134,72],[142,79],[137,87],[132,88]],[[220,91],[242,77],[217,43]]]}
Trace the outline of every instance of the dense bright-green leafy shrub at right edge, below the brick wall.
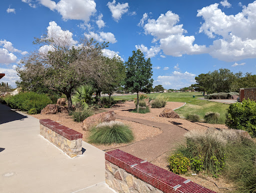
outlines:
{"label": "dense bright-green leafy shrub at right edge, below the brick wall", "polygon": [[228,128],[246,130],[256,137],[256,101],[235,102],[227,109],[225,124]]}

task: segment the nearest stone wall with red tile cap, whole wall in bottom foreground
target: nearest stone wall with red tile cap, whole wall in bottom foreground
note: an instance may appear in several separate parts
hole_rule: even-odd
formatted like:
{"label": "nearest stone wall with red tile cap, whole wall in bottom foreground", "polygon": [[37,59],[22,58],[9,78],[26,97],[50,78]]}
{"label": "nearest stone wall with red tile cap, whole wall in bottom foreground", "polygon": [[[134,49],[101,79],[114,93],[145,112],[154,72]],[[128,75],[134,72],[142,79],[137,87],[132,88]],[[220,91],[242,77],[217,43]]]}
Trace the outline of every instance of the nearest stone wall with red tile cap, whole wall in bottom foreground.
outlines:
{"label": "nearest stone wall with red tile cap, whole wall in bottom foreground", "polygon": [[214,191],[119,149],[105,153],[105,181],[117,192]]}

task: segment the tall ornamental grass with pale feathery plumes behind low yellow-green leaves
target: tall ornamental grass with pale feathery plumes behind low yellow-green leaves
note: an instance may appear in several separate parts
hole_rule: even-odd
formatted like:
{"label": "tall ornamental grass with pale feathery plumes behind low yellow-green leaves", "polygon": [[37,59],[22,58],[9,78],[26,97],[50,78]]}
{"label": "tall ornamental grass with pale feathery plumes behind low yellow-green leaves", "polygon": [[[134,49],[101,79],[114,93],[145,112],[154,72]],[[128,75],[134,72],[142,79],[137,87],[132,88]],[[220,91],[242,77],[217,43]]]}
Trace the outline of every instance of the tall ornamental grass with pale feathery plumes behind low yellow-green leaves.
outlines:
{"label": "tall ornamental grass with pale feathery plumes behind low yellow-green leaves", "polygon": [[196,172],[203,169],[217,176],[225,165],[226,140],[222,133],[190,131],[185,138],[186,151],[183,152],[184,156],[191,158],[191,169]]}

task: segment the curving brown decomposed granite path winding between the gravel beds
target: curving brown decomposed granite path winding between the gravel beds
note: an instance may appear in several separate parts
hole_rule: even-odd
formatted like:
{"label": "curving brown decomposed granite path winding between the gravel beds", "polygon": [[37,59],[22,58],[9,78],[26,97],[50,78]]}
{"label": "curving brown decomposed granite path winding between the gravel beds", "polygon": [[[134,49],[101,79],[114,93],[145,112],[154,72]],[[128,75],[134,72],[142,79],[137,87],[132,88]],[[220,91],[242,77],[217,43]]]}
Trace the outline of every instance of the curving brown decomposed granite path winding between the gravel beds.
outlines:
{"label": "curving brown decomposed granite path winding between the gravel beds", "polygon": [[176,125],[120,115],[115,115],[115,117],[117,119],[130,120],[148,126],[154,126],[162,130],[161,134],[152,138],[147,138],[127,146],[119,147],[120,150],[123,150],[141,159],[146,159],[147,161],[152,161],[164,152],[174,149],[177,144],[184,140],[184,134],[187,132],[185,129]]}

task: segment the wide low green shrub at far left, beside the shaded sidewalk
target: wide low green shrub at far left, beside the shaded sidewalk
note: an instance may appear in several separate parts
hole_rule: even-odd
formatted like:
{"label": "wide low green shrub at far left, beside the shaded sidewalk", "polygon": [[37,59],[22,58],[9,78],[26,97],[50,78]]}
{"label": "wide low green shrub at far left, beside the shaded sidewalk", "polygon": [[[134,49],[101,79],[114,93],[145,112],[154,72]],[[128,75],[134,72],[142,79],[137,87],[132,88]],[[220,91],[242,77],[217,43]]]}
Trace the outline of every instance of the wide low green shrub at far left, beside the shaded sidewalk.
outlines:
{"label": "wide low green shrub at far left, beside the shaded sidewalk", "polygon": [[46,94],[35,92],[19,92],[16,95],[5,98],[5,101],[11,108],[28,111],[35,108],[39,113],[47,104],[52,103]]}

